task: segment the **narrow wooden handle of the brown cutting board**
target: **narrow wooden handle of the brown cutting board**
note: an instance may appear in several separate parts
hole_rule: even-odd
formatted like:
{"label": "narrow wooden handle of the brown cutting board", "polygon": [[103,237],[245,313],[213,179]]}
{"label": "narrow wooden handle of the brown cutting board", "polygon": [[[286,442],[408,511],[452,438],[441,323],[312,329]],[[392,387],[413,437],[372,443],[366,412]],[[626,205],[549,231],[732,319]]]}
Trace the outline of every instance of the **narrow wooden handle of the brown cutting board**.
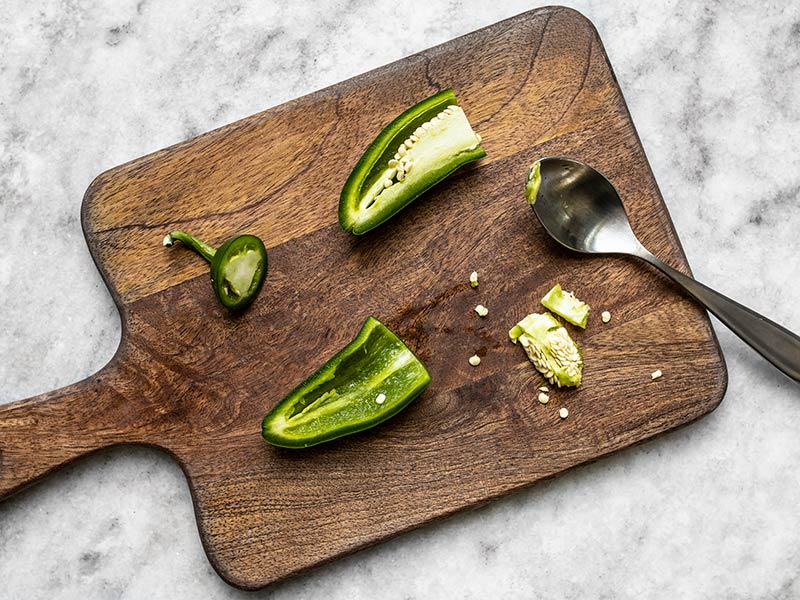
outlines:
{"label": "narrow wooden handle of the brown cutting board", "polygon": [[0,499],[80,456],[124,440],[124,400],[108,367],[54,392],[0,406]]}

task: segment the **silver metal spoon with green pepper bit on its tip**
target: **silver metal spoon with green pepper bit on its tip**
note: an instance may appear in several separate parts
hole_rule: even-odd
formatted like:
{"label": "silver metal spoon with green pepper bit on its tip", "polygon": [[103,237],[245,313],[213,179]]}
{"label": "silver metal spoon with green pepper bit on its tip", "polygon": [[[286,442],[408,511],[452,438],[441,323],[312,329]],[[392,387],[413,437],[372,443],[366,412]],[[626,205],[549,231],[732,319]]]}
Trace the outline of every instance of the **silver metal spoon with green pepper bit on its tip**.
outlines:
{"label": "silver metal spoon with green pepper bit on its tip", "polygon": [[525,195],[557,242],[587,254],[628,254],[646,260],[681,286],[756,352],[800,381],[800,337],[664,264],[642,246],[614,186],[577,160],[548,157],[528,174]]}

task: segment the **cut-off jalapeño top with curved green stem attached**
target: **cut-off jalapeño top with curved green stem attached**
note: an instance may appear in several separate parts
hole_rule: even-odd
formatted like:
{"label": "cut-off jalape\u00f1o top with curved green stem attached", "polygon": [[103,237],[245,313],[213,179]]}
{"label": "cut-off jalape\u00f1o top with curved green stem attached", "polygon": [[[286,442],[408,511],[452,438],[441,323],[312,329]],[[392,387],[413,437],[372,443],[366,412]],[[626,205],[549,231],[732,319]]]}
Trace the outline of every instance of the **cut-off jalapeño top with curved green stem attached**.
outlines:
{"label": "cut-off jalape\u00f1o top with curved green stem attached", "polygon": [[183,231],[170,231],[165,246],[180,240],[211,263],[211,286],[222,306],[246,308],[258,295],[267,276],[267,249],[254,235],[237,235],[215,250]]}

